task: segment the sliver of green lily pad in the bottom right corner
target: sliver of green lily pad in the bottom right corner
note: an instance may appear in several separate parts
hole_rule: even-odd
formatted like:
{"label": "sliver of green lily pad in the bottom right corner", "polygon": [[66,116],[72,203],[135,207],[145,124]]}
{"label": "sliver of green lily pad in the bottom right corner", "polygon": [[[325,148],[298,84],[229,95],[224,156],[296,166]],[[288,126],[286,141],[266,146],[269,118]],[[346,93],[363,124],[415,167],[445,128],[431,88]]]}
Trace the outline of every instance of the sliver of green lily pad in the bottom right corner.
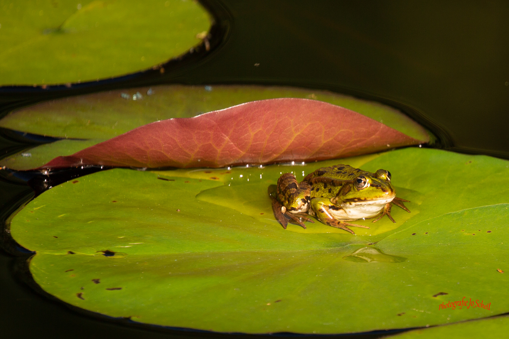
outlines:
{"label": "sliver of green lily pad in the bottom right corner", "polygon": [[509,331],[509,318],[496,317],[476,321],[468,321],[447,326],[422,328],[391,336],[394,339],[427,339],[427,338],[503,338]]}

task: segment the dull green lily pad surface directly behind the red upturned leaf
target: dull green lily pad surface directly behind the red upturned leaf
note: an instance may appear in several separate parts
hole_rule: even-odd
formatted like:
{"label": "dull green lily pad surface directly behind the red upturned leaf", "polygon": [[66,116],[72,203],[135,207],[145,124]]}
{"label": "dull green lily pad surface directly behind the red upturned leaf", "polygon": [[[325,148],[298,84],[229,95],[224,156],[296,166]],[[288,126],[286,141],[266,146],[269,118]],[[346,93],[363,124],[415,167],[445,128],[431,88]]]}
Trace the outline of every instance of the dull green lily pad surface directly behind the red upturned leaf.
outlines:
{"label": "dull green lily pad surface directly behind the red upturned leaf", "polygon": [[[132,100],[133,95],[137,100]],[[109,139],[157,120],[191,117],[274,98],[328,102],[383,122],[414,139],[430,139],[428,132],[408,116],[376,102],[324,90],[241,85],[161,85],[51,100],[8,114],[0,120],[0,127],[63,138]]]}

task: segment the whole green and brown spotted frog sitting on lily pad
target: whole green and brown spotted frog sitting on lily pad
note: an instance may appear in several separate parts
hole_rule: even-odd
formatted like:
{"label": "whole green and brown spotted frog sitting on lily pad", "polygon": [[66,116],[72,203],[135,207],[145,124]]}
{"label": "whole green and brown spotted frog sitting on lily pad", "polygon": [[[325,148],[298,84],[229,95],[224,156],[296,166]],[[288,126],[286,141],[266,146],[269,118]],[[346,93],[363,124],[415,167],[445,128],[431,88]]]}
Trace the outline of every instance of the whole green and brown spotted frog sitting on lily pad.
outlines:
{"label": "whole green and brown spotted frog sitting on lily pad", "polygon": [[319,168],[300,183],[292,173],[285,173],[270,197],[274,215],[285,229],[289,222],[306,228],[302,220],[313,222],[307,213],[326,225],[355,234],[347,226],[369,227],[348,221],[378,217],[376,222],[387,215],[395,223],[390,216],[392,204],[410,212],[403,204],[408,200],[396,197],[389,171],[371,173],[342,164]]}

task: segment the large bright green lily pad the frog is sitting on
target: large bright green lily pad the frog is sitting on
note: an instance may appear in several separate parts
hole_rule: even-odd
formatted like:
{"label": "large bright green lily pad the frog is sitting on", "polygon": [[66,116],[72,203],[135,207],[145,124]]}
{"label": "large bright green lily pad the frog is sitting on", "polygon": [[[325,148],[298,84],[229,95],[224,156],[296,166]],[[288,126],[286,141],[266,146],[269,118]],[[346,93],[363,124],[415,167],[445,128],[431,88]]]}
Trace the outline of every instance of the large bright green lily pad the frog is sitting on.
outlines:
{"label": "large bright green lily pad the frog is sitting on", "polygon": [[[282,229],[267,187],[339,162],[390,170],[412,212],[359,221],[371,228],[357,235]],[[37,252],[30,271],[46,292],[136,322],[246,333],[446,324],[509,311],[497,271],[509,265],[508,174],[504,160],[418,147],[294,166],[114,169],[46,191],[11,235]],[[439,309],[469,299],[490,310]]]}

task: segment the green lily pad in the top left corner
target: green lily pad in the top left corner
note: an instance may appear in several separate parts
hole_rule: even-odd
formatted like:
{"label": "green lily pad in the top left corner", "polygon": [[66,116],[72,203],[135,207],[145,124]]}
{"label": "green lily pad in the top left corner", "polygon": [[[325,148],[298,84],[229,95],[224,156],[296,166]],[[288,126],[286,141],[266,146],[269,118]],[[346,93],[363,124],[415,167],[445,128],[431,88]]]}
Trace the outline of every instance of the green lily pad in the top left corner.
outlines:
{"label": "green lily pad in the top left corner", "polygon": [[4,5],[0,85],[83,82],[148,69],[199,44],[196,35],[211,25],[190,0]]}

